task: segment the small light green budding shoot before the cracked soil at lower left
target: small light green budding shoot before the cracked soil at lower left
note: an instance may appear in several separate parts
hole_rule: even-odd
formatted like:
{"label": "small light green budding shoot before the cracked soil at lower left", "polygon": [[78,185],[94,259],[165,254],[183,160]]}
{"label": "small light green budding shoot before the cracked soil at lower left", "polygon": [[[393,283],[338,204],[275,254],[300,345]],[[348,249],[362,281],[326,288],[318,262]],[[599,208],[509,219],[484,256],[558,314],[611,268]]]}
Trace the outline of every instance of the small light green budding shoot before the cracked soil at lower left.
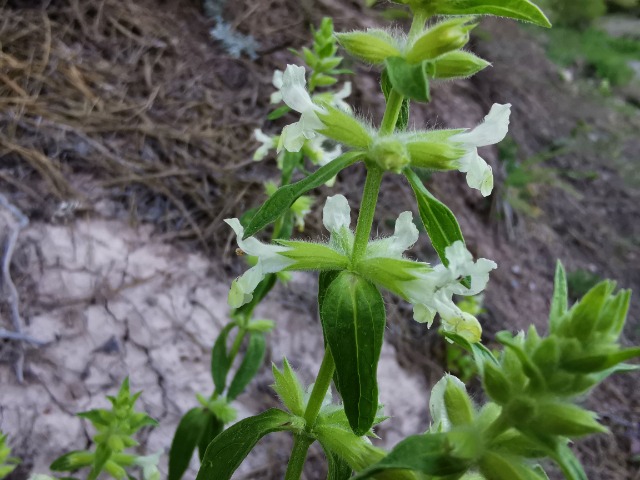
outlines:
{"label": "small light green budding shoot before the cracked soil at lower left", "polygon": [[[69,452],[51,464],[54,472],[73,472],[90,467],[87,479],[95,480],[105,472],[112,478],[127,478],[127,469],[143,467],[145,480],[159,480],[158,458],[139,457],[125,453],[138,442],[133,439],[138,430],[145,426],[156,426],[158,422],[143,412],[135,411],[135,403],[142,392],[131,394],[129,379],[125,378],[115,397],[107,397],[111,410],[95,409],[81,412],[79,417],[89,420],[96,429],[93,437],[95,450]],[[155,463],[153,459],[155,458]]]}

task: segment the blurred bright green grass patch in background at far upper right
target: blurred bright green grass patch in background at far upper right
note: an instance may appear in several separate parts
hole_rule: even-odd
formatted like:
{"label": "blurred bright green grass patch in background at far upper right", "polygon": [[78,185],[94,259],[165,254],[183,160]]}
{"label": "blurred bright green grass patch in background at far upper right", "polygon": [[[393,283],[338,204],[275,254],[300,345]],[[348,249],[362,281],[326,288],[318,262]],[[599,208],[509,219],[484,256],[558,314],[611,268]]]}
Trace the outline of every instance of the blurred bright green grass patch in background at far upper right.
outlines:
{"label": "blurred bright green grass patch in background at far upper right", "polygon": [[607,80],[615,87],[633,79],[629,62],[640,58],[640,41],[614,38],[597,28],[558,28],[549,32],[547,53],[563,67],[583,64],[584,74]]}

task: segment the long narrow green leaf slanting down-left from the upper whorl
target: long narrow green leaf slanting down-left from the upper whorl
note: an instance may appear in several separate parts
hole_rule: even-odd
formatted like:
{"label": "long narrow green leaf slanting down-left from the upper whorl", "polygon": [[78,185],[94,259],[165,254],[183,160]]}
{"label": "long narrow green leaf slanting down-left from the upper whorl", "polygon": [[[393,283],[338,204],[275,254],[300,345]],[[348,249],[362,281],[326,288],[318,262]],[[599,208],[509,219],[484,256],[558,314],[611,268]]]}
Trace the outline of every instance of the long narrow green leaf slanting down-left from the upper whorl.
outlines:
{"label": "long narrow green leaf slanting down-left from the upper whorl", "polygon": [[248,238],[270,223],[276,221],[280,215],[287,212],[298,197],[309,190],[324,185],[344,168],[363,158],[362,152],[347,152],[323,167],[320,167],[307,178],[290,185],[280,187],[251,219],[244,231],[244,238]]}

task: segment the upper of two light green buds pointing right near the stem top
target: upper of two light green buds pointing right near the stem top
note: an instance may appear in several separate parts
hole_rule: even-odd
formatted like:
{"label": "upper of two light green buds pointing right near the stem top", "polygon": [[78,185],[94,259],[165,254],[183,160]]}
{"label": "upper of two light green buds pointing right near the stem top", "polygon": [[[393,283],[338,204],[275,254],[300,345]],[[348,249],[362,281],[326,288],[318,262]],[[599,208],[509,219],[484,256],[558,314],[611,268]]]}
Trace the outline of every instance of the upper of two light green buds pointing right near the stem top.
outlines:
{"label": "upper of two light green buds pointing right near the stem top", "polygon": [[469,42],[469,32],[477,25],[465,25],[470,18],[448,20],[427,30],[407,52],[407,61],[420,63],[464,47]]}

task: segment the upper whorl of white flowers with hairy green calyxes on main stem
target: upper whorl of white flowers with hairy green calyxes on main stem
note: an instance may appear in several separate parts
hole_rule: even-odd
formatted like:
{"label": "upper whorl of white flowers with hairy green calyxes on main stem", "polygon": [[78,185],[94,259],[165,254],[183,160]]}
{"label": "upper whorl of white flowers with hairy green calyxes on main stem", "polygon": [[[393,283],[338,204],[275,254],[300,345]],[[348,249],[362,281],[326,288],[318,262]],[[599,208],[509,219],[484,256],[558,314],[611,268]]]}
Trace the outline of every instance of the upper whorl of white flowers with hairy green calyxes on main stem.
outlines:
{"label": "upper whorl of white flowers with hairy green calyxes on main stem", "polygon": [[[300,119],[284,127],[277,140],[278,149],[291,152],[300,151],[303,145],[313,144],[318,150],[325,136],[334,137],[347,145],[371,145],[368,155],[385,170],[400,171],[405,166],[416,166],[434,170],[453,170],[466,173],[467,184],[487,196],[493,189],[493,173],[487,162],[478,155],[478,148],[494,145],[504,139],[509,128],[511,105],[494,104],[484,121],[476,128],[457,130],[431,130],[408,133],[379,135],[375,138],[344,138],[344,132],[370,135],[366,133],[360,120],[348,114],[337,112],[329,103],[312,98],[306,90],[304,67],[289,65],[282,75],[279,97],[296,112]],[[348,115],[347,115],[348,114]],[[351,118],[348,118],[351,117]],[[338,124],[343,128],[328,128]],[[353,128],[360,124],[363,128]],[[337,138],[334,132],[340,132]],[[364,132],[364,133],[363,133]],[[262,156],[276,144],[274,138],[256,132],[263,146],[256,152]],[[325,152],[326,164],[337,158],[342,150],[336,147]]]}

